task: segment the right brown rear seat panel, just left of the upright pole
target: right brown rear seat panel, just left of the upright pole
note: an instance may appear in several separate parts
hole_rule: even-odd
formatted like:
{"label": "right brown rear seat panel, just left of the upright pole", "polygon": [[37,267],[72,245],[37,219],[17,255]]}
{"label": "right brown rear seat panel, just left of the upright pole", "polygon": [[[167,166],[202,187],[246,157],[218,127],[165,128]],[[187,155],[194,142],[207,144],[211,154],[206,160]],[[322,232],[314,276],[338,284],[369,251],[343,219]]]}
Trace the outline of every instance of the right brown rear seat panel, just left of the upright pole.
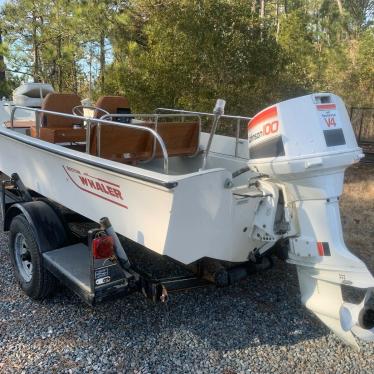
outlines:
{"label": "right brown rear seat panel, just left of the upright pole", "polygon": [[[193,156],[199,148],[198,122],[160,122],[157,132],[163,139],[169,157]],[[161,147],[156,147],[156,157],[162,157]]]}

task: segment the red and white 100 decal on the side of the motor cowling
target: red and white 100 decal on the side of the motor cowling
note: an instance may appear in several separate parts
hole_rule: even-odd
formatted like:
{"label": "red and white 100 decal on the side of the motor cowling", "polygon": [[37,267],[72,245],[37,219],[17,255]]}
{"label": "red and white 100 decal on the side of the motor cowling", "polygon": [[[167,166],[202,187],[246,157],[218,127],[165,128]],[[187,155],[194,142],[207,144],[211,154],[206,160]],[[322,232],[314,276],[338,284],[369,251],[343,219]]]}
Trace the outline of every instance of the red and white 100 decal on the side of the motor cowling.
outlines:
{"label": "red and white 100 decal on the side of the motor cowling", "polygon": [[268,135],[278,133],[279,121],[277,107],[273,106],[254,116],[248,123],[249,143]]}

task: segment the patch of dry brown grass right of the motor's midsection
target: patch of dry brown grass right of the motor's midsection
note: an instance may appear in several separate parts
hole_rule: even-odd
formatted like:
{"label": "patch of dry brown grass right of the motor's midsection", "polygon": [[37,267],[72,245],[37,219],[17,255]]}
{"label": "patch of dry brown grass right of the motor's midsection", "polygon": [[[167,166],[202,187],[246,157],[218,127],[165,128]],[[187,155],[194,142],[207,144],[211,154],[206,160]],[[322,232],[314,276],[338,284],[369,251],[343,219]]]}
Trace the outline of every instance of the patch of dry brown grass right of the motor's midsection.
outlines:
{"label": "patch of dry brown grass right of the motor's midsection", "polygon": [[341,217],[348,248],[374,273],[374,165],[359,164],[347,170]]}

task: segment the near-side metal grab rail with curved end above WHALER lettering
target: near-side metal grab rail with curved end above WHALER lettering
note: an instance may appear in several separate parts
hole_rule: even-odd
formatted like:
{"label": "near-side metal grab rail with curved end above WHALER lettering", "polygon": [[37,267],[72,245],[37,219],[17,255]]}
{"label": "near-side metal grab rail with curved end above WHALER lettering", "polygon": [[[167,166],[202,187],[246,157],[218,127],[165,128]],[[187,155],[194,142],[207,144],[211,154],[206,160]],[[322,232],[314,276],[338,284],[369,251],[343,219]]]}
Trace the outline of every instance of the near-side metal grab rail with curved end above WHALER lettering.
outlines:
{"label": "near-side metal grab rail with curved end above WHALER lettering", "polygon": [[[13,105],[12,105],[13,106]],[[150,129],[149,127],[144,127],[144,126],[138,126],[138,125],[132,125],[132,124],[127,124],[127,123],[118,123],[114,121],[108,121],[105,119],[96,119],[92,117],[83,117],[83,116],[77,116],[74,114],[67,114],[67,113],[59,113],[59,112],[52,112],[50,110],[44,110],[44,109],[37,109],[37,108],[29,108],[29,107],[24,107],[24,106],[18,106],[14,105],[12,108],[12,112],[10,114],[10,126],[13,129],[14,128],[14,115],[17,109],[22,109],[22,110],[28,110],[31,112],[35,113],[45,113],[45,114],[51,114],[55,116],[60,116],[64,118],[73,118],[73,119],[78,119],[82,121],[86,121],[87,123],[87,134],[86,134],[86,152],[89,153],[89,145],[90,145],[90,130],[91,130],[91,122],[98,123],[98,124],[107,124],[107,125],[114,125],[118,127],[126,127],[126,128],[131,128],[131,129],[136,129],[140,131],[146,131],[151,133],[154,138],[158,141],[161,147],[162,151],[162,156],[164,158],[164,173],[168,174],[169,172],[169,155],[165,146],[164,141],[162,140],[161,136],[153,129]],[[143,114],[142,116],[153,116],[154,114]],[[131,116],[134,116],[133,114]],[[40,135],[40,122],[36,122],[36,131],[38,136]],[[88,135],[88,136],[87,136]],[[88,147],[87,147],[88,145]]]}

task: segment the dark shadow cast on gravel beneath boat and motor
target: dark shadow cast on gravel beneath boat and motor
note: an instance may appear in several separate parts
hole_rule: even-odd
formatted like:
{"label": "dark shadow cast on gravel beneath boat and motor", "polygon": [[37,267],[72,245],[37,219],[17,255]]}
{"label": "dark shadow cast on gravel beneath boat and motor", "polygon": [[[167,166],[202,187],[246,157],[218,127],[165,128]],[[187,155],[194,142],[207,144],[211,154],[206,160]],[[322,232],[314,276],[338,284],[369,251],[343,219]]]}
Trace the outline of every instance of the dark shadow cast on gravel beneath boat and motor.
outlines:
{"label": "dark shadow cast on gravel beneath boat and motor", "polygon": [[294,269],[279,261],[274,269],[235,286],[171,294],[166,305],[153,304],[135,293],[90,308],[66,289],[41,305],[56,322],[61,307],[64,314],[69,310],[70,328],[85,331],[88,340],[109,334],[126,347],[144,340],[197,340],[205,348],[222,352],[289,346],[327,335],[300,305]]}

